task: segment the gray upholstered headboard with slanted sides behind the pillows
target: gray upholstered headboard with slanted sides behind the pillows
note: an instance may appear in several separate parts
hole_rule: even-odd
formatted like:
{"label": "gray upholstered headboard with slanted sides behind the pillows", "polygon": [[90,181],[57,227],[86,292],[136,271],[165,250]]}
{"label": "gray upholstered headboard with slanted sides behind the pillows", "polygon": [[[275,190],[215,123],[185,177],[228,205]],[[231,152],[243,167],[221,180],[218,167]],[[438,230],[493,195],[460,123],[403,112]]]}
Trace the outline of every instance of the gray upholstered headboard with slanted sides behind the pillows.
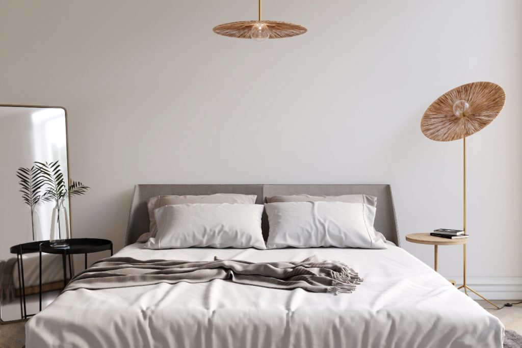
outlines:
{"label": "gray upholstered headboard with slanted sides behind the pillows", "polygon": [[[390,185],[136,185],[129,214],[125,245],[135,243],[138,237],[149,231],[147,200],[160,195],[257,195],[256,204],[262,204],[267,196],[299,195],[339,196],[366,194],[377,197],[375,229],[388,241],[400,245],[395,208]],[[266,214],[263,217],[263,235],[268,236]]]}

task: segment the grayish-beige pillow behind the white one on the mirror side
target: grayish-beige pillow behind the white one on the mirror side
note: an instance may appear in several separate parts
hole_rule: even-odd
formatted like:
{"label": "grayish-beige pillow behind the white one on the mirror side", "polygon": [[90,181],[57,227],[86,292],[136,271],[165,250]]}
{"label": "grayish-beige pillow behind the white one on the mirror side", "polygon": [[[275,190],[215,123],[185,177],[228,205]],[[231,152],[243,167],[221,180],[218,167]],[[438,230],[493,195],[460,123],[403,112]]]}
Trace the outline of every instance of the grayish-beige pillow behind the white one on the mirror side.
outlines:
{"label": "grayish-beige pillow behind the white one on the mirror side", "polygon": [[150,237],[155,237],[158,233],[158,226],[154,211],[164,206],[173,206],[177,204],[196,204],[196,203],[240,203],[254,204],[256,195],[239,195],[239,194],[215,194],[201,196],[156,196],[149,198],[147,201],[147,210],[149,211],[150,227],[149,233],[145,233],[138,238],[138,243],[145,243]]}

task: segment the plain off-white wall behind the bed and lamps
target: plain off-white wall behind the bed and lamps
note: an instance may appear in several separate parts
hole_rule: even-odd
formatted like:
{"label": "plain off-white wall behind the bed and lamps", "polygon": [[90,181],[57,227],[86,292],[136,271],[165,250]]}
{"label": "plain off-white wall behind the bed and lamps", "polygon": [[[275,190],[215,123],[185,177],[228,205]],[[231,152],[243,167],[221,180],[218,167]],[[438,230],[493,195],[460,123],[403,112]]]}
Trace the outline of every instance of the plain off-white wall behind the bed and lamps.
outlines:
{"label": "plain off-white wall behind the bed and lamps", "polygon": [[[507,99],[468,140],[468,270],[522,279],[519,0],[265,0],[309,32],[264,43],[211,31],[254,19],[254,0],[1,5],[0,102],[68,110],[73,178],[92,187],[75,236],[122,247],[137,183],[389,183],[402,246],[431,265],[404,236],[461,227],[461,143],[420,118],[488,80]],[[440,258],[461,275],[460,247]]]}

